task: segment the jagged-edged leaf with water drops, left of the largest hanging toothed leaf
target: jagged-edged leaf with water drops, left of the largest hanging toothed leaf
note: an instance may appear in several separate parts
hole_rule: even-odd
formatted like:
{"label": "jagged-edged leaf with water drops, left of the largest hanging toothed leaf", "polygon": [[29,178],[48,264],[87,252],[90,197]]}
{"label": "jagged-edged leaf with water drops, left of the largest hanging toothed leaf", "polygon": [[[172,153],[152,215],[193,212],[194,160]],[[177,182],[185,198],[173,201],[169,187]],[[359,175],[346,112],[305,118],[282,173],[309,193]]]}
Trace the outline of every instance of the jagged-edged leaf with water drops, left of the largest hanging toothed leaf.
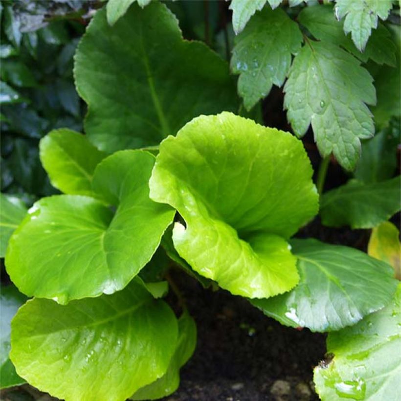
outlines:
{"label": "jagged-edged leaf with water drops, left of the largest hanging toothed leaf", "polygon": [[273,84],[283,85],[291,53],[295,54],[301,43],[298,25],[281,8],[265,7],[235,38],[230,65],[240,74],[238,92],[247,110],[266,97]]}

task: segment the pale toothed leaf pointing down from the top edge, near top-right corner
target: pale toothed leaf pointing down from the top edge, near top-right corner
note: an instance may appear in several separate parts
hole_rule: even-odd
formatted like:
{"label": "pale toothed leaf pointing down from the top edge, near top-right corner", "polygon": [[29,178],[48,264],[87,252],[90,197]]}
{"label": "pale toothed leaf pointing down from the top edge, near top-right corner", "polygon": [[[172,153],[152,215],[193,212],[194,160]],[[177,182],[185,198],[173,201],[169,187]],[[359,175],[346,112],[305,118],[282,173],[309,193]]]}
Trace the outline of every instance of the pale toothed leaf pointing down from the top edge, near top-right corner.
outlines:
{"label": "pale toothed leaf pointing down from the top edge, near top-right corner", "polygon": [[351,32],[356,47],[363,51],[372,29],[378,26],[378,18],[386,20],[392,0],[336,0],[335,15],[337,19],[345,17],[344,32]]}

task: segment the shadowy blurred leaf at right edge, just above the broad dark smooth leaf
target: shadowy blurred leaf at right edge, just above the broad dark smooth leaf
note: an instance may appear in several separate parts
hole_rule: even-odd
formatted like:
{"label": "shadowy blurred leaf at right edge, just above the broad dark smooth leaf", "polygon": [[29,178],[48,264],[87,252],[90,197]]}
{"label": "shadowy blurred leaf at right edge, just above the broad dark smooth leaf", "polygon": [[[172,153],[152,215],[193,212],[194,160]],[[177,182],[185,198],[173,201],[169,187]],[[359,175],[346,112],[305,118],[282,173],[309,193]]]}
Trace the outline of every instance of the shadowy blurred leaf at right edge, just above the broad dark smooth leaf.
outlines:
{"label": "shadowy blurred leaf at right edge, just above the broad dark smooth leaf", "polygon": [[373,138],[362,141],[362,155],[354,177],[365,184],[392,178],[397,168],[397,147],[400,129],[387,128]]}

